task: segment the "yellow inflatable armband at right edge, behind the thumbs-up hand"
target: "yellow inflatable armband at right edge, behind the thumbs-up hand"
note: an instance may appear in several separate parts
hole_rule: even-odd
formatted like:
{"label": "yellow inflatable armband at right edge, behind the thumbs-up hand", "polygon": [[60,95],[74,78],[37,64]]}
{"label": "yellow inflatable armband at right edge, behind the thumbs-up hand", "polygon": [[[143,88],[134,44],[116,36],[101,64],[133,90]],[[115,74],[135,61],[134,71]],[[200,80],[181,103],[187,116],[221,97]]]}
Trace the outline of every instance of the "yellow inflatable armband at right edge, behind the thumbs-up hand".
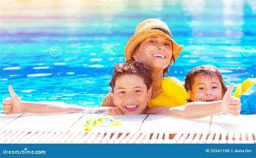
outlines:
{"label": "yellow inflatable armband at right edge, behind the thumbs-up hand", "polygon": [[248,78],[242,84],[235,88],[234,97],[240,98],[245,91],[247,91],[253,84],[256,83],[256,78]]}

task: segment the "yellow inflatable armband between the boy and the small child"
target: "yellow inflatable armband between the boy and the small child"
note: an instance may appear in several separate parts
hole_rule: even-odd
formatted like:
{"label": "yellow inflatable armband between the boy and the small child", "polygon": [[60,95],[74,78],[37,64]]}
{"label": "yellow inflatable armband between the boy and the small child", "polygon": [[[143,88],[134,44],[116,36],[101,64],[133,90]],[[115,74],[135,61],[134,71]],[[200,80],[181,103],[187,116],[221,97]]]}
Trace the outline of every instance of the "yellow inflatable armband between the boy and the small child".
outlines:
{"label": "yellow inflatable armband between the boy and the small child", "polygon": [[187,104],[187,99],[190,98],[190,95],[186,92],[183,83],[179,79],[167,77],[159,81],[159,84],[161,84],[163,92],[152,94],[158,96],[149,102],[150,108],[154,106],[176,107]]}

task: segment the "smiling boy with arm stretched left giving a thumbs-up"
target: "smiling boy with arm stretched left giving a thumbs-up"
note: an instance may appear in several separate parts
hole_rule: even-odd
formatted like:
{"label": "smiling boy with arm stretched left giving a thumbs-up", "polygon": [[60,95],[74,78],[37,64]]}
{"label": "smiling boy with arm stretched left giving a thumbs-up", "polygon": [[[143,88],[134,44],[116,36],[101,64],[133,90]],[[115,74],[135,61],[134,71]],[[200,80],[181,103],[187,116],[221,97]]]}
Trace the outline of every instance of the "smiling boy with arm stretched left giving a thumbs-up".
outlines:
{"label": "smiling boy with arm stretched left giving a thumbs-up", "polygon": [[152,72],[139,61],[127,61],[114,67],[110,82],[112,87],[111,98],[117,107],[86,108],[77,105],[68,105],[64,102],[21,101],[18,95],[9,86],[11,98],[4,99],[3,111],[5,114],[28,113],[70,113],[80,111],[99,111],[110,114],[140,114],[147,107],[151,97]]}

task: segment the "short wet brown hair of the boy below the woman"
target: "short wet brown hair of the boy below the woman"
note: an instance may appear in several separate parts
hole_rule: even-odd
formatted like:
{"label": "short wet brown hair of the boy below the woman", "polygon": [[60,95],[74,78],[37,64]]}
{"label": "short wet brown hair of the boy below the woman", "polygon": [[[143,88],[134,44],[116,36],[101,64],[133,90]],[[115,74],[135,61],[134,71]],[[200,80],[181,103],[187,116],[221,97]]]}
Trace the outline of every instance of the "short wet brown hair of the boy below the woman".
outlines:
{"label": "short wet brown hair of the boy below the woman", "polygon": [[109,85],[112,87],[112,91],[114,91],[116,79],[124,74],[134,74],[143,78],[144,83],[147,86],[147,90],[149,90],[152,85],[152,71],[144,67],[144,65],[139,61],[127,60],[125,63],[114,65],[113,77],[109,83]]}

